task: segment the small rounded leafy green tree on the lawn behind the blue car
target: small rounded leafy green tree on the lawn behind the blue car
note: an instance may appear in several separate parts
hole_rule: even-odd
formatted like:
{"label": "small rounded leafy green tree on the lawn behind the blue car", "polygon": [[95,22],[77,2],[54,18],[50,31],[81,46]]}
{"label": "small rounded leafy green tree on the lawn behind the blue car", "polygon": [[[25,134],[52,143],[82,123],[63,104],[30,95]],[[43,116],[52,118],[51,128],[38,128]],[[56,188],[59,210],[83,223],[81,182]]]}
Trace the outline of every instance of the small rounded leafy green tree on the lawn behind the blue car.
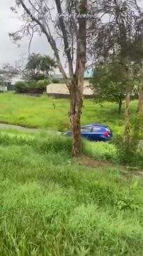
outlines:
{"label": "small rounded leafy green tree on the lawn behind the blue car", "polygon": [[119,114],[129,83],[133,90],[135,86],[133,78],[126,76],[126,69],[119,59],[98,65],[91,79],[96,102],[116,102],[119,105]]}

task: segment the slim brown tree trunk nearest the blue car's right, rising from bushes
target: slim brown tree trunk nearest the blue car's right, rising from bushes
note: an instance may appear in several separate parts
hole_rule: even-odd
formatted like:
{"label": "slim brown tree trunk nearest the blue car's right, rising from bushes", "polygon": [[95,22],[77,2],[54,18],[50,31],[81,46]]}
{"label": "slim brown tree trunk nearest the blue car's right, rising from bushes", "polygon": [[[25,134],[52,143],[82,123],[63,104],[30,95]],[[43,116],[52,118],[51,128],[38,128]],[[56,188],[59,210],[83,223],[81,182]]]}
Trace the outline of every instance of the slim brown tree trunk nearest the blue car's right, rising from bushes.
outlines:
{"label": "slim brown tree trunk nearest the blue car's right, rising from bushes", "polygon": [[126,110],[125,110],[125,142],[130,142],[130,91],[126,91]]}

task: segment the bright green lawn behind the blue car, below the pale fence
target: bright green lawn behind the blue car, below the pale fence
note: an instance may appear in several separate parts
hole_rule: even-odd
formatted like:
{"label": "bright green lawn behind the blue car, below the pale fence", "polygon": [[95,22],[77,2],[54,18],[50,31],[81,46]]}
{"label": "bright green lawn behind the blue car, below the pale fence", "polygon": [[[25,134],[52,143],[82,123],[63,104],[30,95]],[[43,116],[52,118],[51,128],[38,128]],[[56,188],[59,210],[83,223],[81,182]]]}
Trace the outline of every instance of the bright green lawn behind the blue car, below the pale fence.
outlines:
{"label": "bright green lawn behind the blue car, below the pale fence", "polygon": [[[56,105],[54,109],[52,104]],[[135,113],[137,102],[131,102],[131,112]],[[69,101],[55,100],[52,97],[32,97],[27,95],[0,94],[0,122],[21,126],[66,130]],[[124,109],[123,109],[124,111]],[[88,123],[107,123],[116,134],[123,134],[123,117],[118,114],[118,106],[105,102],[103,106],[93,100],[84,100],[82,125]]]}

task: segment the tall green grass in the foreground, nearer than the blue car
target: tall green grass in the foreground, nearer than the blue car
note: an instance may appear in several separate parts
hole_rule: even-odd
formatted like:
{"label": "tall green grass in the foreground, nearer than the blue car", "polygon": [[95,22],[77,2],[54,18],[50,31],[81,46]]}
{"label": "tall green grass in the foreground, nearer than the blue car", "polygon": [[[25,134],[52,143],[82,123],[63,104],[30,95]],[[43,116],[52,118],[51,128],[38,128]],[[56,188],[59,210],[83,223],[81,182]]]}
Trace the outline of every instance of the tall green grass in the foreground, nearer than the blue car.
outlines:
{"label": "tall green grass in the foreground, nearer than the blue car", "polygon": [[86,168],[70,146],[0,134],[0,255],[141,256],[142,179]]}

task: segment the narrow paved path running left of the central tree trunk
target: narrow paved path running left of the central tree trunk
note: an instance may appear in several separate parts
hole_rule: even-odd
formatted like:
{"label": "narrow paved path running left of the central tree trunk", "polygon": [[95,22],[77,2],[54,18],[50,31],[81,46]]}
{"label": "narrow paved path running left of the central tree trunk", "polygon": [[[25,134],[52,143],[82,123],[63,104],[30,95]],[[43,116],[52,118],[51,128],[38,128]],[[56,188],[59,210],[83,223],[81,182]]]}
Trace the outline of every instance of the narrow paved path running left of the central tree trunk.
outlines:
{"label": "narrow paved path running left of the central tree trunk", "polygon": [[[38,128],[26,128],[26,127],[23,127],[23,126],[15,126],[13,124],[6,124],[6,123],[0,123],[0,128],[2,128],[2,129],[13,129],[13,130],[22,130],[22,131],[26,131],[26,132],[30,132],[30,133],[38,133],[42,130],[42,129],[38,129]],[[50,133],[50,134],[61,135],[61,132],[58,132],[58,131],[46,130],[46,129],[45,129],[45,131],[47,133]]]}

